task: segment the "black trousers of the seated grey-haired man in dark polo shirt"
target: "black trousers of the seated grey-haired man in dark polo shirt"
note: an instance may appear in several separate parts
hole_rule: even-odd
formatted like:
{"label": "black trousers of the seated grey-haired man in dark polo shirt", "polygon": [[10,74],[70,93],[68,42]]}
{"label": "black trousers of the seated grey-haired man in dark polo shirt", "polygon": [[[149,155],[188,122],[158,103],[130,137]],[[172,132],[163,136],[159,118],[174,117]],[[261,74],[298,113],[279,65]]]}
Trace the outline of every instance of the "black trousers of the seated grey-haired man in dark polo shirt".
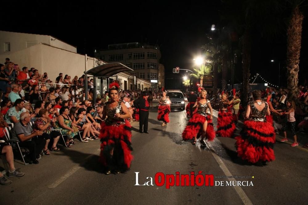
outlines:
{"label": "black trousers of the seated grey-haired man in dark polo shirt", "polygon": [[28,140],[25,142],[19,142],[20,147],[26,147],[30,151],[30,159],[34,161],[37,159],[37,156],[41,153],[41,151],[44,149],[46,140],[45,139],[34,139],[36,137],[33,137],[32,140]]}

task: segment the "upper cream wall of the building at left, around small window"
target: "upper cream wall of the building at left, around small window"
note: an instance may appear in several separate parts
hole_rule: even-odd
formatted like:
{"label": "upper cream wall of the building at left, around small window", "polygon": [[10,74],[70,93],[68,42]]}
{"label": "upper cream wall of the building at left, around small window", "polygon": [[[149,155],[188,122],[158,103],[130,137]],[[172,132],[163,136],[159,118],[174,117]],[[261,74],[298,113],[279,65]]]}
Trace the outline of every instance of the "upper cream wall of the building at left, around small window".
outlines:
{"label": "upper cream wall of the building at left, around small window", "polygon": [[[4,46],[6,42],[10,42],[10,52],[5,52]],[[39,43],[46,43],[57,48],[77,53],[76,47],[62,42],[52,36],[0,31],[0,54],[14,53]]]}

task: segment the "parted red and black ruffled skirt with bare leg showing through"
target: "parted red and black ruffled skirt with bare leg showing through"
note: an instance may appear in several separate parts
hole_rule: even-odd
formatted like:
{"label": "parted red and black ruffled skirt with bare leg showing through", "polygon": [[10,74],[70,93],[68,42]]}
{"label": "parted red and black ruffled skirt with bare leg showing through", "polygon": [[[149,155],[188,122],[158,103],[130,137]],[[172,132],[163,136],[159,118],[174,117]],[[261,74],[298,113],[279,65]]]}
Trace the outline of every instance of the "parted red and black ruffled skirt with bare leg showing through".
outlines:
{"label": "parted red and black ruffled skirt with bare leg showing through", "polygon": [[203,123],[205,123],[205,120],[208,121],[205,138],[209,141],[213,141],[215,138],[215,131],[211,116],[207,115],[207,117],[205,118],[205,116],[202,116],[199,113],[195,113],[193,117],[189,120],[187,126],[182,133],[182,138],[184,140],[193,139],[196,135],[197,138],[199,138],[202,134],[202,126]]}

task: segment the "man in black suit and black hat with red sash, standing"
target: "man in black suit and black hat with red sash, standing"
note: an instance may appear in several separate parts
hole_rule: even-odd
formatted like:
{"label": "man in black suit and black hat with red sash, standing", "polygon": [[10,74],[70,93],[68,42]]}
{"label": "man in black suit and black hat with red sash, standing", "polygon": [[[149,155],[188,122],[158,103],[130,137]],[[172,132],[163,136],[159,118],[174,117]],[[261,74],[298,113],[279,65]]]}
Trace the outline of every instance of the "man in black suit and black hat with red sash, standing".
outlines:
{"label": "man in black suit and black hat with red sash, standing", "polygon": [[[140,133],[148,134],[148,119],[149,119],[149,91],[143,91],[140,98],[134,101],[134,106],[139,108],[139,131]],[[142,131],[143,128],[143,131]]]}

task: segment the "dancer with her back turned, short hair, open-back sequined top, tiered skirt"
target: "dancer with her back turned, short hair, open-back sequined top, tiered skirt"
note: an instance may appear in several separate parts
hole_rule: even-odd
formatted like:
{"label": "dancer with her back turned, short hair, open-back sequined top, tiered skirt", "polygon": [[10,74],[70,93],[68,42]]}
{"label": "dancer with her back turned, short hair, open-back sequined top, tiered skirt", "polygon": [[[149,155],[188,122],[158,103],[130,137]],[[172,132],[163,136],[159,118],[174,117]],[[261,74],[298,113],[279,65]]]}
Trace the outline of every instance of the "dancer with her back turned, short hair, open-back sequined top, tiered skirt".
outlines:
{"label": "dancer with her back turned, short hair, open-back sequined top, tiered skirt", "polygon": [[270,115],[268,103],[261,100],[261,90],[253,91],[253,100],[247,105],[241,136],[236,137],[237,155],[250,163],[266,163],[275,159],[275,132],[272,123],[266,120]]}

